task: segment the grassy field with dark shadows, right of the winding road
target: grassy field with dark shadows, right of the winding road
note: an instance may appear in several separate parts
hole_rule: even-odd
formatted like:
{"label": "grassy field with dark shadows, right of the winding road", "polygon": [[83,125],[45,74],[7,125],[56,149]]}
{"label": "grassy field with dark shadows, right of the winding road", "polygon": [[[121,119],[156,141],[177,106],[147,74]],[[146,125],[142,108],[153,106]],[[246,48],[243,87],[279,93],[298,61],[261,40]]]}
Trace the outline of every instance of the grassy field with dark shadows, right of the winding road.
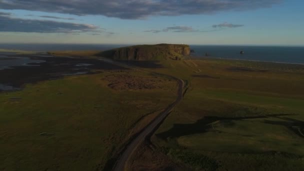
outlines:
{"label": "grassy field with dark shadows, right of the winding road", "polygon": [[304,168],[304,66],[170,61],[190,87],[152,136],[173,160],[205,170]]}

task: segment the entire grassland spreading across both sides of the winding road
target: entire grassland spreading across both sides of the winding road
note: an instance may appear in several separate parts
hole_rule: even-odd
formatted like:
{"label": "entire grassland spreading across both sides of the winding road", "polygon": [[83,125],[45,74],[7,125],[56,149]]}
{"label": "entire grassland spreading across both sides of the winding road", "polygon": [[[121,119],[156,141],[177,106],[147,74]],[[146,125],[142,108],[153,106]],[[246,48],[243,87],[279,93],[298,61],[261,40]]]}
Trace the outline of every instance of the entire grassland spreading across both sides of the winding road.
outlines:
{"label": "entire grassland spreading across both sides of the winding road", "polygon": [[[169,158],[170,167],[157,168],[304,168],[303,65],[204,58],[155,61],[153,66],[145,70],[182,78],[187,89],[151,137],[154,148],[145,155],[137,151],[146,162],[137,158],[136,166],[152,163],[142,168],[153,169]],[[101,71],[1,93],[0,169],[102,169],[175,98],[176,84],[168,77]]]}

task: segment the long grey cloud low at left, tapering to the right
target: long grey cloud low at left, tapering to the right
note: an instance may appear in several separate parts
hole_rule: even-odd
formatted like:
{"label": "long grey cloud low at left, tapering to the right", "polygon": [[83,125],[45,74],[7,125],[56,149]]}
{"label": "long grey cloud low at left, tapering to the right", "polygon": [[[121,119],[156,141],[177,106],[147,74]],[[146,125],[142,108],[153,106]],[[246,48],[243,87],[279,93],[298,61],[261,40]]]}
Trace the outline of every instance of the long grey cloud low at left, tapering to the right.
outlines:
{"label": "long grey cloud low at left, tapering to the right", "polygon": [[92,24],[59,22],[51,20],[11,18],[0,15],[0,32],[79,33],[103,32],[104,29]]}

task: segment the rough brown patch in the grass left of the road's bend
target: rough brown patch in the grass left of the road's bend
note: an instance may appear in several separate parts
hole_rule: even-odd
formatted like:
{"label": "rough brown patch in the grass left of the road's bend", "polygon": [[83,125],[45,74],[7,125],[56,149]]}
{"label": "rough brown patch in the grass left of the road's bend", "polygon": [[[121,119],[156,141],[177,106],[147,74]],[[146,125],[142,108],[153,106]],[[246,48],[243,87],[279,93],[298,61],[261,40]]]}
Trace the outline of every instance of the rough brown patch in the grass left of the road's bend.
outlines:
{"label": "rough brown patch in the grass left of the road's bend", "polygon": [[103,79],[107,80],[108,86],[115,90],[164,88],[163,83],[166,81],[157,76],[144,77],[130,74],[112,74]]}

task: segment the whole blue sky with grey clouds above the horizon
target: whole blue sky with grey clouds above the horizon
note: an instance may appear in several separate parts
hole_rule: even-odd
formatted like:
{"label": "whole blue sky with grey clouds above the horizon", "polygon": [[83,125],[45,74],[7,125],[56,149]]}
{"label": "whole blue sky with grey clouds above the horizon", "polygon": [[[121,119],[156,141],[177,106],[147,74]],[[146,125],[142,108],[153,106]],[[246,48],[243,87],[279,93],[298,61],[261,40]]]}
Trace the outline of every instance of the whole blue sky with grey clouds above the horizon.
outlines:
{"label": "whole blue sky with grey clouds above the horizon", "polygon": [[304,0],[0,0],[0,43],[304,46]]}

